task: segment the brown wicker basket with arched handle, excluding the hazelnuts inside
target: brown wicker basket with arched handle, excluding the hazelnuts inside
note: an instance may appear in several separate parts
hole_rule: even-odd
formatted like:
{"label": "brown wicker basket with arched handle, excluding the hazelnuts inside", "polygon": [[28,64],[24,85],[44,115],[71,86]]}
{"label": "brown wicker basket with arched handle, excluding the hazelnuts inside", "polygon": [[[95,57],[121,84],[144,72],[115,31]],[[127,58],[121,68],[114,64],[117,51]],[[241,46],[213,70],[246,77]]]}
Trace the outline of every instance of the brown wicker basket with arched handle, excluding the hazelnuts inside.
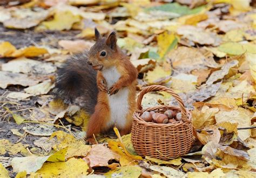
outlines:
{"label": "brown wicker basket with arched handle, excluding the hazelnuts inside", "polygon": [[[165,91],[177,99],[179,107],[158,105],[152,108],[142,109],[143,96],[150,91]],[[170,124],[157,124],[145,122],[140,116],[144,111],[164,113],[171,109],[181,112],[182,119]],[[150,156],[161,160],[177,158],[190,151],[193,142],[193,127],[191,113],[186,111],[184,103],[173,90],[164,86],[149,86],[143,89],[137,100],[137,110],[133,113],[132,144],[139,155]]]}

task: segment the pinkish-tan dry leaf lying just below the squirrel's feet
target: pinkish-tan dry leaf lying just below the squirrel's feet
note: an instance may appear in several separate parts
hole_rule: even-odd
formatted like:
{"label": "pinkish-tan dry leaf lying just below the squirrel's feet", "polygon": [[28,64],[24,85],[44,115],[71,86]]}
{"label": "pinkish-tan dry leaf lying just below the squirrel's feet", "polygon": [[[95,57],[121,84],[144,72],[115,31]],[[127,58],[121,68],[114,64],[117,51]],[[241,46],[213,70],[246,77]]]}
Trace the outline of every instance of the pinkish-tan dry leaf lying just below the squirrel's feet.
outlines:
{"label": "pinkish-tan dry leaf lying just below the squirrel's feet", "polygon": [[104,144],[93,145],[91,151],[84,158],[88,160],[90,167],[109,166],[108,161],[119,160],[120,156],[111,151]]}

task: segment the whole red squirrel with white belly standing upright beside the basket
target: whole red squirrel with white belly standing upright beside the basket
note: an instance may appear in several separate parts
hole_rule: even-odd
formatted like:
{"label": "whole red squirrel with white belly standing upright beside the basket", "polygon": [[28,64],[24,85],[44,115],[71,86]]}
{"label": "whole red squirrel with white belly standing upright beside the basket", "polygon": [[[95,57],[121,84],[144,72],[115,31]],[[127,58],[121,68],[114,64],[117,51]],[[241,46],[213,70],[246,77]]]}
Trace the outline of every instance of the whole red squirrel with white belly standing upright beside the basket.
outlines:
{"label": "whole red squirrel with white belly standing upright beside the basket", "polygon": [[57,98],[79,103],[90,115],[86,139],[116,125],[120,135],[131,131],[136,109],[137,69],[117,46],[116,32],[107,38],[95,28],[89,52],[73,55],[57,72]]}

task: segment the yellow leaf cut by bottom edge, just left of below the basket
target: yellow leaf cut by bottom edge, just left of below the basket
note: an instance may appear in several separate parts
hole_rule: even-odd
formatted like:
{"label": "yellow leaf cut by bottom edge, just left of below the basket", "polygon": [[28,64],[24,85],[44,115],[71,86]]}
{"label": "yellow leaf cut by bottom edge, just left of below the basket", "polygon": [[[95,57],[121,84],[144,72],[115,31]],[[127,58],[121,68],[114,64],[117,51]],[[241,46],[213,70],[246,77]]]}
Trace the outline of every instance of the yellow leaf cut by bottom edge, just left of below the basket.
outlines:
{"label": "yellow leaf cut by bottom edge, just left of below the basket", "polygon": [[110,172],[104,174],[106,178],[112,177],[132,177],[137,178],[142,173],[142,168],[139,166],[123,166],[119,167],[116,170],[111,170]]}

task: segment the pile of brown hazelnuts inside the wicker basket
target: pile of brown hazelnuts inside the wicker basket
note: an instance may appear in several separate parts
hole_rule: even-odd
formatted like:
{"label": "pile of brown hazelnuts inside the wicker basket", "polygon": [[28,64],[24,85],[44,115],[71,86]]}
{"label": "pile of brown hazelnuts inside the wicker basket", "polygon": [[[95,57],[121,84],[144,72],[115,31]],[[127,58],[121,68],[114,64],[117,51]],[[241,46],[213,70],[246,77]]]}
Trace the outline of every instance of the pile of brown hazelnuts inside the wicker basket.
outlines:
{"label": "pile of brown hazelnuts inside the wicker basket", "polygon": [[164,113],[158,113],[154,111],[145,111],[142,116],[140,116],[146,122],[167,124],[173,123],[181,120],[181,113],[174,112],[172,110],[166,110]]}

